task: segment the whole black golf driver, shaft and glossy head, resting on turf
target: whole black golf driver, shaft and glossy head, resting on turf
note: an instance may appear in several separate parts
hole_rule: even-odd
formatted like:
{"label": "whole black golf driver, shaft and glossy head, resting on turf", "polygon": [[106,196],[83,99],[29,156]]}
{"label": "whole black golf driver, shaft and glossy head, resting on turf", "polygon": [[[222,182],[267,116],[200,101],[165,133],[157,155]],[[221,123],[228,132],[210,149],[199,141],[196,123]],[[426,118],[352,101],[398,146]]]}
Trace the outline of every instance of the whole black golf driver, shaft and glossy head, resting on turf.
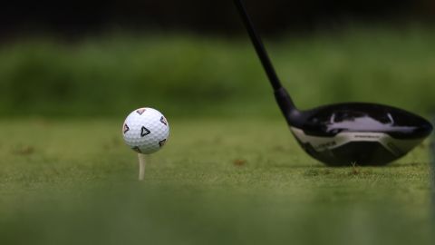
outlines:
{"label": "whole black golf driver, shaft and glossy head, resting on turf", "polygon": [[337,103],[299,111],[279,81],[245,5],[241,0],[234,3],[291,132],[314,159],[330,166],[385,165],[430,135],[433,127],[424,118],[382,104]]}

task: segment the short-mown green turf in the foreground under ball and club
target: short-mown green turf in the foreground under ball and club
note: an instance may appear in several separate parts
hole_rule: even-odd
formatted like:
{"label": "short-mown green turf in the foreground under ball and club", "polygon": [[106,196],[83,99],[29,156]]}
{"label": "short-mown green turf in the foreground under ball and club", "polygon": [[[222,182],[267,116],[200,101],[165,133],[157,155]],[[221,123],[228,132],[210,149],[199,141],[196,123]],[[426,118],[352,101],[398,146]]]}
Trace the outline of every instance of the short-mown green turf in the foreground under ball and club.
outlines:
{"label": "short-mown green turf in the foreground under ball and club", "polygon": [[0,244],[432,244],[427,143],[327,168],[283,120],[173,120],[137,181],[121,121],[0,122]]}

